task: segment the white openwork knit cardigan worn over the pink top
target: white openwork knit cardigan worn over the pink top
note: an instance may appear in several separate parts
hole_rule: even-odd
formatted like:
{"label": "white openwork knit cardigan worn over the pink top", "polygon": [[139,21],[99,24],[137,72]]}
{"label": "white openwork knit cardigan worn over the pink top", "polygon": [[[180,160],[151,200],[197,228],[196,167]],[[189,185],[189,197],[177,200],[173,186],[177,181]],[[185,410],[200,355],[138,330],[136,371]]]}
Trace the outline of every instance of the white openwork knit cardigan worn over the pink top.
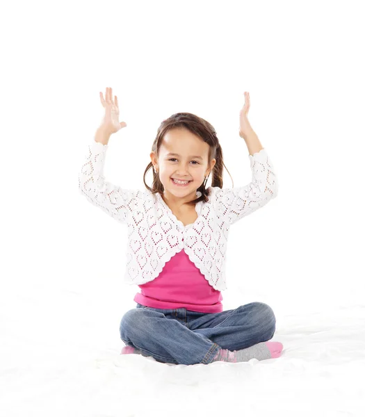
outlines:
{"label": "white openwork knit cardigan worn over the pink top", "polygon": [[[127,224],[125,284],[145,284],[158,277],[181,250],[216,290],[227,289],[225,259],[229,227],[277,195],[277,177],[266,149],[249,155],[252,181],[243,187],[209,187],[209,202],[195,206],[198,217],[184,226],[161,195],[120,188],[103,177],[108,145],[92,140],[79,170],[79,191],[89,202]],[[200,192],[197,196],[200,197]]]}

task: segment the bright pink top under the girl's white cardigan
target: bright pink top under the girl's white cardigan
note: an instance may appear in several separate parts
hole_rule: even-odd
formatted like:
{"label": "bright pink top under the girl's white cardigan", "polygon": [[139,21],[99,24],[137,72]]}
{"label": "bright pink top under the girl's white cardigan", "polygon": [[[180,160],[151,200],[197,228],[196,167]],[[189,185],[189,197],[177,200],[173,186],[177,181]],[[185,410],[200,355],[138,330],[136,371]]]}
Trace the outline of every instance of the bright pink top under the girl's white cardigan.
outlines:
{"label": "bright pink top under the girl's white cardigan", "polygon": [[134,301],[154,309],[180,309],[201,313],[220,313],[223,300],[220,291],[206,281],[202,272],[181,250],[165,263],[160,275],[138,285]]}

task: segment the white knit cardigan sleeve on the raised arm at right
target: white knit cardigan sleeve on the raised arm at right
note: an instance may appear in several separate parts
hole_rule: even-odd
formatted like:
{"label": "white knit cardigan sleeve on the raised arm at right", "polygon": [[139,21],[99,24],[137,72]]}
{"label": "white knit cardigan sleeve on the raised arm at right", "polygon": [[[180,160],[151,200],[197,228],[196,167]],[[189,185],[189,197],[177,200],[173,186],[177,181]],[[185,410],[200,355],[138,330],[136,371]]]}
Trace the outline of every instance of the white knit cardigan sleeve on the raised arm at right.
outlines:
{"label": "white knit cardigan sleeve on the raised arm at right", "polygon": [[222,188],[216,193],[216,204],[219,211],[227,216],[229,224],[265,206],[277,196],[277,177],[266,149],[249,155],[249,158],[252,181],[247,186]]}

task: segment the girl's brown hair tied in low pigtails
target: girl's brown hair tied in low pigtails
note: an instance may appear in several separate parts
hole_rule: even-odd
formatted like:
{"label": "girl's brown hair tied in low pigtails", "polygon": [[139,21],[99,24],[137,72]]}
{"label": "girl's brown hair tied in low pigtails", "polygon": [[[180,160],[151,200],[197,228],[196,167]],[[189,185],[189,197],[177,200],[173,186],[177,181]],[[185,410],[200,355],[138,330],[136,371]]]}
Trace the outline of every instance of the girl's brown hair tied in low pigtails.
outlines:
{"label": "girl's brown hair tied in low pigtails", "polygon": [[[190,131],[191,133],[194,133],[195,135],[200,136],[200,138],[202,138],[202,140],[204,140],[204,142],[206,142],[209,145],[209,155],[208,155],[209,163],[211,162],[213,158],[216,159],[216,164],[214,165],[213,170],[211,171],[213,174],[211,186],[222,188],[223,166],[227,170],[227,167],[225,166],[225,163],[223,162],[222,148],[220,147],[220,143],[216,135],[215,129],[209,122],[202,119],[202,117],[198,117],[197,115],[194,115],[193,113],[175,113],[174,115],[171,115],[168,119],[163,120],[163,122],[161,122],[161,125],[159,126],[159,129],[157,129],[157,135],[152,144],[152,152],[155,152],[156,156],[158,156],[159,149],[161,147],[161,142],[163,140],[163,136],[165,135],[165,133],[167,133],[170,129],[177,129],[177,128],[188,129],[188,131]],[[151,191],[152,194],[160,193],[162,195],[163,184],[161,183],[159,179],[158,172],[156,173],[153,171],[154,179],[152,183],[152,188],[147,186],[147,183],[145,181],[146,174],[152,167],[153,167],[152,162],[150,162],[145,169],[145,173],[143,174],[143,182],[145,183],[146,188],[149,191]],[[231,177],[231,174],[229,174],[229,177]],[[206,181],[207,180],[204,179],[204,182],[202,183],[202,185],[199,188],[197,188],[197,191],[200,191],[202,195],[186,204],[195,205],[197,204],[197,202],[200,202],[202,200],[204,202],[208,201],[209,192],[205,188]],[[232,186],[233,186],[233,179],[232,179]]]}

